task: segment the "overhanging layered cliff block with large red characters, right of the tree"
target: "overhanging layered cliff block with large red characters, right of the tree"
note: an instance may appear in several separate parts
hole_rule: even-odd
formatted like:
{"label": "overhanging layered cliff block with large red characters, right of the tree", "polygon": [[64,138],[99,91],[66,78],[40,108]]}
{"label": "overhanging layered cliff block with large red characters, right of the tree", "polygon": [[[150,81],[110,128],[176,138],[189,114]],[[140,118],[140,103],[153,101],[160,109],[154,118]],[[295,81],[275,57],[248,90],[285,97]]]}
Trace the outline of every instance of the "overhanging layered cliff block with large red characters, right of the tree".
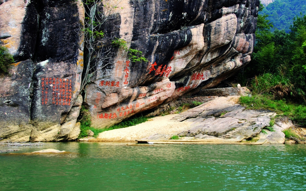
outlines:
{"label": "overhanging layered cliff block with large red characters, right of the tree", "polygon": [[106,36],[124,39],[148,62],[132,62],[118,50],[114,64],[96,66],[103,69],[84,99],[93,126],[111,126],[233,75],[250,61],[258,6],[255,0],[122,0]]}

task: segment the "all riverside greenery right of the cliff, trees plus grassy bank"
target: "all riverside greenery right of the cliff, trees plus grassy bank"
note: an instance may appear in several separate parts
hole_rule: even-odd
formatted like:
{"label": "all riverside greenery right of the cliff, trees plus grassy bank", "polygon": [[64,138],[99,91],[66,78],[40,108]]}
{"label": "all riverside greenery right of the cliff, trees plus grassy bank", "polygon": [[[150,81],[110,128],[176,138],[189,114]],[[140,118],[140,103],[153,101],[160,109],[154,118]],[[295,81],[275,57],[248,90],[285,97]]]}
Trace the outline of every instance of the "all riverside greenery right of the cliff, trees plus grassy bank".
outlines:
{"label": "all riverside greenery right of the cliff, trees plus grassy bank", "polygon": [[[261,5],[259,11],[263,9]],[[251,63],[236,76],[252,90],[252,97],[240,97],[240,103],[248,109],[277,113],[270,127],[262,130],[264,134],[273,131],[274,121],[282,116],[289,117],[297,127],[306,127],[306,15],[295,16],[288,30],[278,30],[264,10],[258,15]],[[283,132],[287,139],[304,140],[293,129]]]}

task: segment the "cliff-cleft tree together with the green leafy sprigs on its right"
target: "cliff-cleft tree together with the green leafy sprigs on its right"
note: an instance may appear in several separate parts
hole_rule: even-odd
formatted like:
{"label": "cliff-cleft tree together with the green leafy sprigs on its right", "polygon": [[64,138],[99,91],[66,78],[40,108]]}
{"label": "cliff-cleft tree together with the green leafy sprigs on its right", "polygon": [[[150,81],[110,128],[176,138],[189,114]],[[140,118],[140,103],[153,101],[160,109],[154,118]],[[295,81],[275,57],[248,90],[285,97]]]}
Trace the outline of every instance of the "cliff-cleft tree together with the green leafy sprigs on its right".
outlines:
{"label": "cliff-cleft tree together with the green leafy sprigs on its right", "polygon": [[[99,69],[113,64],[114,51],[113,47],[123,52],[128,52],[127,56],[132,62],[148,61],[142,56],[142,52],[135,49],[128,49],[127,42],[115,36],[106,36],[102,31],[102,26],[107,20],[115,19],[119,10],[121,0],[82,0],[85,9],[84,27],[81,29],[84,34],[84,72],[80,90],[84,91],[86,84],[90,81],[91,76]],[[119,10],[117,10],[119,9]],[[111,41],[113,46],[105,46],[103,42]],[[109,44],[110,45],[110,44]],[[118,57],[117,57],[118,58]],[[105,63],[106,64],[102,64]],[[99,67],[98,67],[99,66]]]}

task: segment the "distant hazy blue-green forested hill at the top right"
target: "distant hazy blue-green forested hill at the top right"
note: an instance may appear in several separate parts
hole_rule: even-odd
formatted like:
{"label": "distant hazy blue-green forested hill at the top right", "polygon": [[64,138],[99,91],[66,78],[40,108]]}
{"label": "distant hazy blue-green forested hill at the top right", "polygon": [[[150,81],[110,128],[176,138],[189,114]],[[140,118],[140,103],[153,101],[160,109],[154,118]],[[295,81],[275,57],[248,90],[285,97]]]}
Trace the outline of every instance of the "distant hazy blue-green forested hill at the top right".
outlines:
{"label": "distant hazy blue-green forested hill at the top right", "polygon": [[300,14],[306,14],[305,0],[275,0],[270,3],[259,14],[268,14],[267,18],[278,30],[284,29],[289,32],[290,25],[293,23],[293,17]]}

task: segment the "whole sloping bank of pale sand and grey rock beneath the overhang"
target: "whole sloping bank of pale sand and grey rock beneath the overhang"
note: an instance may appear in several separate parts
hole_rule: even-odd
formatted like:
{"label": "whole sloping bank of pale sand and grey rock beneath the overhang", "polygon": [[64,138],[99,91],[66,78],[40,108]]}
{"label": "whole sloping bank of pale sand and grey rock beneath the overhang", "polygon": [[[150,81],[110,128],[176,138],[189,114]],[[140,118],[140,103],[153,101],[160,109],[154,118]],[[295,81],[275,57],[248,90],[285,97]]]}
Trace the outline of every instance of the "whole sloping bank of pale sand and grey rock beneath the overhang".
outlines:
{"label": "whole sloping bank of pale sand and grey rock beneath the overhang", "polygon": [[[179,135],[181,139],[191,141],[240,142],[258,135],[264,127],[269,126],[274,113],[245,110],[235,104],[237,98],[239,96],[218,97],[180,114],[158,116],[132,127],[104,131],[98,138],[88,141],[168,140]],[[199,114],[200,110],[202,112]],[[260,140],[256,144],[263,144],[266,138]]]}

